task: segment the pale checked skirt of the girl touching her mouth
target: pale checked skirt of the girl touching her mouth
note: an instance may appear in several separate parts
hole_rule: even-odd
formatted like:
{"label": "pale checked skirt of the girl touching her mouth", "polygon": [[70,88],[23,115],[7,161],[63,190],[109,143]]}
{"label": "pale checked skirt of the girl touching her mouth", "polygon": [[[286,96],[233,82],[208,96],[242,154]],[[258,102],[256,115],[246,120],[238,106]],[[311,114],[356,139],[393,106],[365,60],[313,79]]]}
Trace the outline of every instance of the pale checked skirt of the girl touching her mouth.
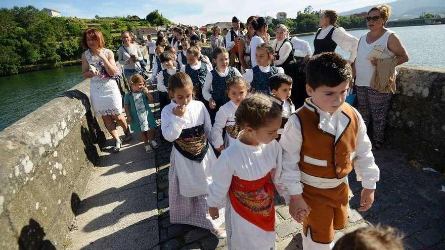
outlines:
{"label": "pale checked skirt of the girl touching her mouth", "polygon": [[[211,149],[210,149],[211,150]],[[195,197],[181,195],[179,180],[173,157],[170,157],[168,170],[168,201],[170,203],[170,223],[188,224],[214,231],[225,222],[225,208],[219,209],[219,218],[212,220],[208,213],[207,196]]]}

